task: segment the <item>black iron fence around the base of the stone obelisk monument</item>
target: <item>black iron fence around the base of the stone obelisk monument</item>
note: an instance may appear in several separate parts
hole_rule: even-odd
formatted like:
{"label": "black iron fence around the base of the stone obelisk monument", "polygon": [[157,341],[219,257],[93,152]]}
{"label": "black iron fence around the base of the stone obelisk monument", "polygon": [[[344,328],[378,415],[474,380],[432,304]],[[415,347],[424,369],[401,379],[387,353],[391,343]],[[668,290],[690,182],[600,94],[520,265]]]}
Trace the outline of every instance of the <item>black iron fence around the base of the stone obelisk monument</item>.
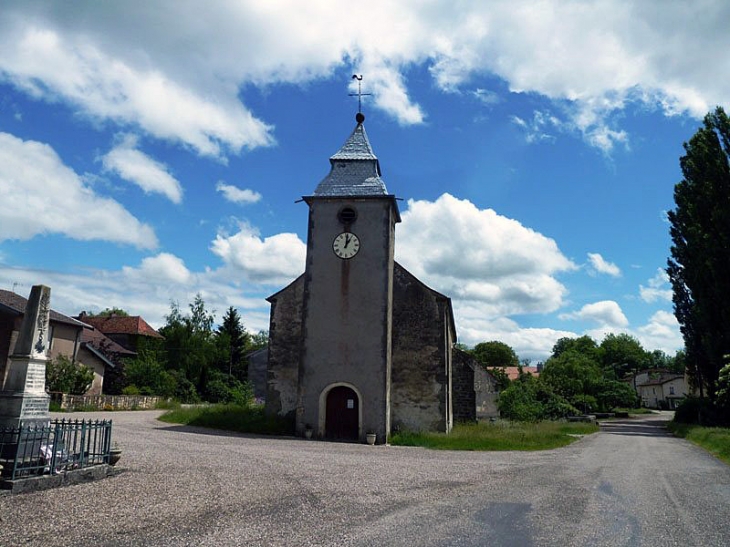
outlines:
{"label": "black iron fence around the base of the stone obelisk monument", "polygon": [[48,425],[0,428],[2,477],[57,475],[109,463],[111,420],[52,420]]}

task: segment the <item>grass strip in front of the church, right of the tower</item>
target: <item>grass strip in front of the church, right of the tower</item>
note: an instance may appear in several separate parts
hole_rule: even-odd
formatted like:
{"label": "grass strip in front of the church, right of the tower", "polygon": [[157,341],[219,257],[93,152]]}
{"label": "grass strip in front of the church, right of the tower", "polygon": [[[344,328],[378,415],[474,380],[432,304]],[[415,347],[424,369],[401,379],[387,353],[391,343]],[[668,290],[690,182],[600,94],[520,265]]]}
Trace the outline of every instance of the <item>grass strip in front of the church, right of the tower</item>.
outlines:
{"label": "grass strip in front of the church, right of the tower", "polygon": [[549,450],[566,446],[578,437],[598,431],[588,423],[499,421],[489,424],[457,424],[444,433],[403,432],[393,435],[390,443],[422,446],[436,450]]}

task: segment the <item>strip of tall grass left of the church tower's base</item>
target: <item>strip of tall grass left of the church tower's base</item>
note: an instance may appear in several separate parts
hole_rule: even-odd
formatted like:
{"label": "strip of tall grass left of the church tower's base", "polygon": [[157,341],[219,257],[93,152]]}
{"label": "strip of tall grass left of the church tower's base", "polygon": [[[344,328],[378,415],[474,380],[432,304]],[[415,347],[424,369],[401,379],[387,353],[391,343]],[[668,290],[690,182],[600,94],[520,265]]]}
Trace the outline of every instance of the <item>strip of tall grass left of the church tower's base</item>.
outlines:
{"label": "strip of tall grass left of the church tower's base", "polygon": [[159,419],[172,424],[195,425],[262,435],[291,435],[294,429],[288,420],[266,416],[264,407],[260,405],[174,408],[165,412]]}

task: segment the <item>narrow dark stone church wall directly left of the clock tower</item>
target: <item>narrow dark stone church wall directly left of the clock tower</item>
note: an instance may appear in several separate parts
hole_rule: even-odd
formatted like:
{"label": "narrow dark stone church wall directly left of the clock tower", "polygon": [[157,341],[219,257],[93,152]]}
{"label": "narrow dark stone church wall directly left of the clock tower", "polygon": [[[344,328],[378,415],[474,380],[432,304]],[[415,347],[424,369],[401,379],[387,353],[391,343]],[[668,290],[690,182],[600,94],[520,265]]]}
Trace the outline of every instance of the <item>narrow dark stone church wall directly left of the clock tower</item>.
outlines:
{"label": "narrow dark stone church wall directly left of the clock tower", "polygon": [[304,276],[272,296],[266,413],[294,418],[299,387]]}

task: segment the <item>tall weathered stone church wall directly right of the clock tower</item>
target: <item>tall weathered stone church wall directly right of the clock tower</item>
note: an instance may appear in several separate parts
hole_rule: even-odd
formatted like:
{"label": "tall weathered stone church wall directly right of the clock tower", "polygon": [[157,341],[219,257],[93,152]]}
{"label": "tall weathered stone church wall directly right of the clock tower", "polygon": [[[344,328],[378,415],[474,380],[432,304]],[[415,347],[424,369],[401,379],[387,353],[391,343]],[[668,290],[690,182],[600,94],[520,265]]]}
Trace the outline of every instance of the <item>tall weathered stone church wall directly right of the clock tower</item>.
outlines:
{"label": "tall weathered stone church wall directly right of the clock tower", "polygon": [[399,264],[393,283],[393,430],[448,431],[450,344],[448,300]]}

